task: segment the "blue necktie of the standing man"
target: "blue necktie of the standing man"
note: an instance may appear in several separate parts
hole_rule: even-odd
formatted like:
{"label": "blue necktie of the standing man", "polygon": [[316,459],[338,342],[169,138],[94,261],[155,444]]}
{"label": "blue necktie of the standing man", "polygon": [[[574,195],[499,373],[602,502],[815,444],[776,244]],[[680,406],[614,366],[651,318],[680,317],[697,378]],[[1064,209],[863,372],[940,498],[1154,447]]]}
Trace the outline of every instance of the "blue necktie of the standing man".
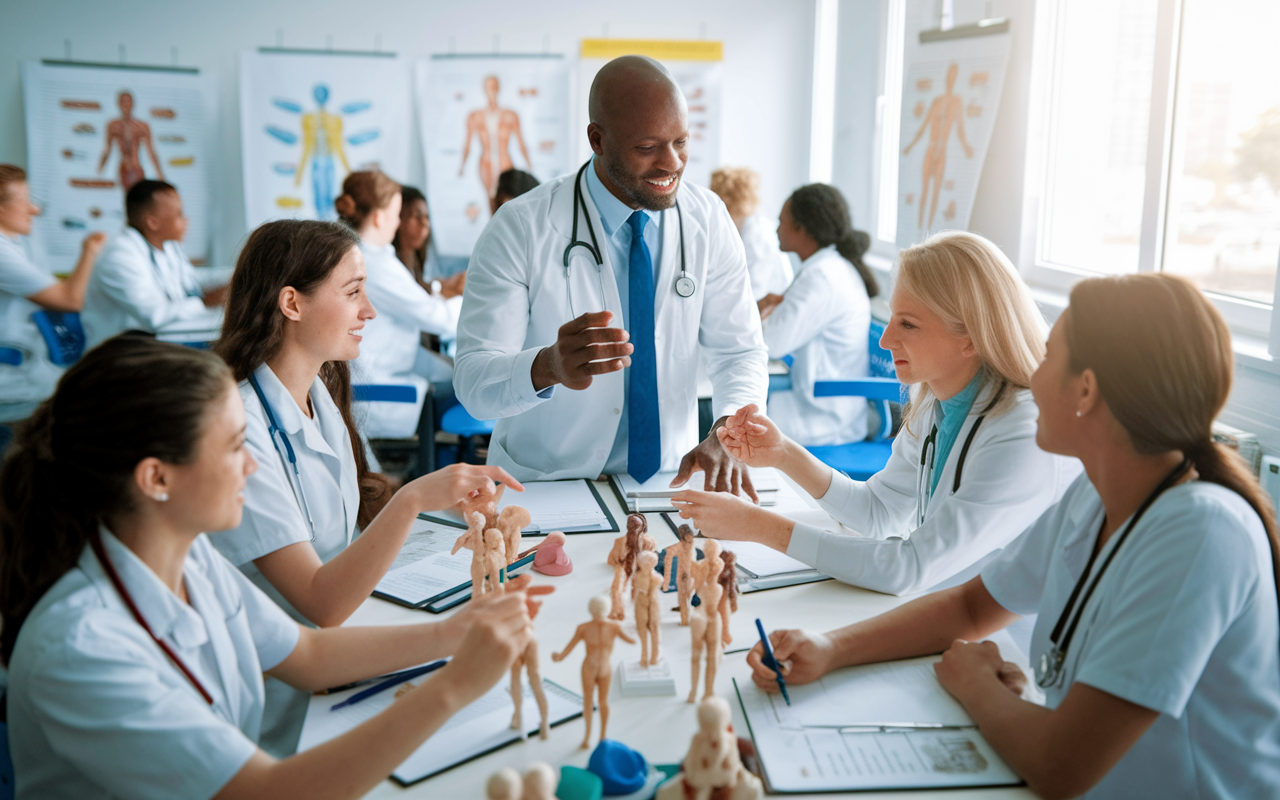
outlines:
{"label": "blue necktie of the standing man", "polygon": [[627,393],[627,472],[639,481],[662,466],[662,428],[658,419],[658,353],[653,342],[653,259],[644,241],[649,215],[635,211],[631,225],[627,310],[631,328],[631,388]]}

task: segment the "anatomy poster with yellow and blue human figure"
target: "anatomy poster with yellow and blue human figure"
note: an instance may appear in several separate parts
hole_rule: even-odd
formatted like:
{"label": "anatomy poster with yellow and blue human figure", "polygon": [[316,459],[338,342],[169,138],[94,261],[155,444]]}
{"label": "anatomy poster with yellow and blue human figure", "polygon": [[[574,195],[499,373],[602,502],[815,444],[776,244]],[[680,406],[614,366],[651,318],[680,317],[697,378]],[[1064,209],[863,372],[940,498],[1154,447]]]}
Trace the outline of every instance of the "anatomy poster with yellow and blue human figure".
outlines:
{"label": "anatomy poster with yellow and blue human figure", "polygon": [[241,52],[244,221],[338,219],[348,173],[406,180],[407,61],[387,55]]}

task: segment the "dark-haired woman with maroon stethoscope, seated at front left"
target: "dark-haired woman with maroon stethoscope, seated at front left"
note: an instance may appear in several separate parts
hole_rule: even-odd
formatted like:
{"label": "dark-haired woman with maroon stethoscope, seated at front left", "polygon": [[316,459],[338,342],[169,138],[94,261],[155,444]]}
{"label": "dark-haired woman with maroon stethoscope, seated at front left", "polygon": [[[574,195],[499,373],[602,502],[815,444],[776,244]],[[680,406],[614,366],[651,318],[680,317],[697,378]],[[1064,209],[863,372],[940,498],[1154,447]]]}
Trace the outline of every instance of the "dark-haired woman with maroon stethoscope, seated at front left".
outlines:
{"label": "dark-haired woman with maroon stethoscope, seated at front left", "polygon": [[[442,622],[289,620],[201,532],[234,529],[273,466],[247,435],[221,360],[138,334],[90,351],[19,433],[0,472],[18,797],[360,797],[524,653],[522,584]],[[451,654],[333,741],[257,745],[264,672],[312,691]]]}

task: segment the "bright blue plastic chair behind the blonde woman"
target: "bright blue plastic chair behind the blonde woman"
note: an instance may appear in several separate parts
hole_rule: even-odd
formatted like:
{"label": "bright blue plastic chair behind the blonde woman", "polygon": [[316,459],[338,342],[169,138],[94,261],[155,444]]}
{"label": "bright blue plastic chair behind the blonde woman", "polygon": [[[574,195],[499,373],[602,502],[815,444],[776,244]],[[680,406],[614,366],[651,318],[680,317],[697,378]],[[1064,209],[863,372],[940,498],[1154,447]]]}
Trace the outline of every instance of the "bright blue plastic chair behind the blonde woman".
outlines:
{"label": "bright blue plastic chair behind the blonde woman", "polygon": [[906,387],[900,384],[893,371],[893,356],[879,346],[884,325],[872,320],[867,337],[870,355],[869,378],[858,380],[818,380],[813,384],[814,397],[865,397],[878,404],[881,426],[869,439],[847,444],[820,444],[805,447],[819,461],[840,470],[854,480],[867,480],[888,463],[893,452],[893,417],[890,403],[904,402]]}

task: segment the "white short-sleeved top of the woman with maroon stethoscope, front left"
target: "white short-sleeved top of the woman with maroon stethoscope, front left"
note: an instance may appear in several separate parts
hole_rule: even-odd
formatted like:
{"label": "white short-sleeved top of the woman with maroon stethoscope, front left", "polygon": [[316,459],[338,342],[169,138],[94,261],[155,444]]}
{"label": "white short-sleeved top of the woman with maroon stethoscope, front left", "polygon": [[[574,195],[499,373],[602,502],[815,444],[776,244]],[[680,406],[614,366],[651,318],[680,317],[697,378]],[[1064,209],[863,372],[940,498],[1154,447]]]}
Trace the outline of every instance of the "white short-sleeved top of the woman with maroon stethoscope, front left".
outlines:
{"label": "white short-sleeved top of the woman with maroon stethoscope, front left", "polygon": [[183,567],[189,605],[105,529],[102,547],[214,704],[147,636],[86,547],[27,617],[9,663],[18,797],[210,797],[257,750],[262,672],[293,652],[298,626],[205,536]]}

